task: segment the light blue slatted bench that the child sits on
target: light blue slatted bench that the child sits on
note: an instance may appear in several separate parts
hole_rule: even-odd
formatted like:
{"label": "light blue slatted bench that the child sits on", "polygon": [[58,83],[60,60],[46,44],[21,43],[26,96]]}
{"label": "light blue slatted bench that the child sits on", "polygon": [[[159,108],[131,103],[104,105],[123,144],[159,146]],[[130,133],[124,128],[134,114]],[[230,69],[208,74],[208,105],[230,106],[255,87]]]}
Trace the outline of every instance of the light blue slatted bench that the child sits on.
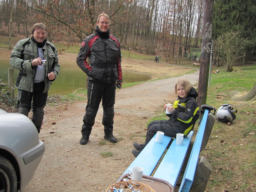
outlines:
{"label": "light blue slatted bench that the child sits on", "polygon": [[[175,187],[183,163],[188,159],[188,163],[185,162],[187,167],[179,191],[204,191],[210,177],[211,165],[204,157],[200,161],[198,161],[198,158],[199,153],[208,142],[215,122],[214,114],[210,113],[211,110],[214,110],[215,113],[216,109],[209,105],[201,106],[200,113],[202,118],[194,142],[191,142],[194,131],[191,131],[187,137],[184,137],[183,145],[176,145],[176,138],[165,135],[162,143],[156,143],[155,135],[124,171],[118,181],[124,178],[129,169],[132,169],[134,166],[140,166],[144,169],[143,175],[151,176],[153,173],[153,178],[167,181]],[[159,162],[161,158],[162,161]],[[155,190],[157,191],[157,189]]]}

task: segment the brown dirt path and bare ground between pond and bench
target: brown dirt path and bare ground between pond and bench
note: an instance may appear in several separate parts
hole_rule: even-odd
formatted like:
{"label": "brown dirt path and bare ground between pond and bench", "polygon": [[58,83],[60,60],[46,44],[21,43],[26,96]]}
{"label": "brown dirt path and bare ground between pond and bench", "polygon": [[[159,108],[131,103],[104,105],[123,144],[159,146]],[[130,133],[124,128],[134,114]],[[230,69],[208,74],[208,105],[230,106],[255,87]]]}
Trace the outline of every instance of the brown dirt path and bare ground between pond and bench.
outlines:
{"label": "brown dirt path and bare ground between pond and bench", "polygon": [[[9,57],[10,51],[5,50],[2,55]],[[62,61],[68,64],[67,60],[74,63],[76,55],[60,55],[60,64]],[[132,144],[145,141],[147,122],[153,116],[164,113],[165,101],[173,102],[176,99],[173,90],[180,76],[188,78],[195,86],[199,76],[199,68],[181,68],[167,65],[161,60],[156,64],[153,61],[123,59],[122,68],[149,73],[152,79],[177,77],[116,90],[113,133],[118,139],[117,143],[103,139],[101,105],[86,145],[80,145],[79,140],[82,136],[82,119],[87,100],[46,106],[44,123],[39,134],[39,139],[45,145],[44,156],[24,192],[106,191],[135,159],[132,155]],[[197,69],[196,72],[184,75],[194,69]],[[113,156],[104,156],[108,154]]]}

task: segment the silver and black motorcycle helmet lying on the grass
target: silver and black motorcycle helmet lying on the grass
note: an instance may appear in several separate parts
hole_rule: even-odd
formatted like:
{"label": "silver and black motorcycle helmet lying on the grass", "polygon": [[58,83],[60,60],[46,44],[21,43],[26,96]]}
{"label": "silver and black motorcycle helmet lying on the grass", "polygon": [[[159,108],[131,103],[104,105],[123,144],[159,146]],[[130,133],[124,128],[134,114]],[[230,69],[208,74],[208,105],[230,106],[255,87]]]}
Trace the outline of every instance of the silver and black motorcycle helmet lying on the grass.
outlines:
{"label": "silver and black motorcycle helmet lying on the grass", "polygon": [[215,118],[218,121],[225,122],[225,123],[235,120],[236,119],[235,113],[237,113],[237,110],[234,110],[234,107],[232,107],[230,104],[221,105],[221,107],[218,108],[216,111]]}

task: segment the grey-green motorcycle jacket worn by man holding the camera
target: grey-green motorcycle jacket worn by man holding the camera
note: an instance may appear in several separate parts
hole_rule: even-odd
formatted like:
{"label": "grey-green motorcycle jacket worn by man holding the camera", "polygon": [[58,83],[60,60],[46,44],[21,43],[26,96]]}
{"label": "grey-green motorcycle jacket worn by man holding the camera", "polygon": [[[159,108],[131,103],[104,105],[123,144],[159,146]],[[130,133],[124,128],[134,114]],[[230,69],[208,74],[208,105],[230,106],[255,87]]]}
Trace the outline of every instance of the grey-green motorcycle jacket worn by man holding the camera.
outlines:
{"label": "grey-green motorcycle jacket worn by man holding the camera", "polygon": [[[57,49],[52,43],[47,41],[44,44],[43,53],[44,59],[47,60],[44,78],[44,92],[46,92],[51,86],[51,81],[48,79],[47,74],[53,72],[56,79],[60,72],[60,64]],[[31,63],[36,58],[38,58],[37,46],[31,38],[22,39],[15,45],[9,62],[12,68],[20,70],[15,84],[16,88],[29,92],[34,91],[34,78],[37,66],[31,66]]]}

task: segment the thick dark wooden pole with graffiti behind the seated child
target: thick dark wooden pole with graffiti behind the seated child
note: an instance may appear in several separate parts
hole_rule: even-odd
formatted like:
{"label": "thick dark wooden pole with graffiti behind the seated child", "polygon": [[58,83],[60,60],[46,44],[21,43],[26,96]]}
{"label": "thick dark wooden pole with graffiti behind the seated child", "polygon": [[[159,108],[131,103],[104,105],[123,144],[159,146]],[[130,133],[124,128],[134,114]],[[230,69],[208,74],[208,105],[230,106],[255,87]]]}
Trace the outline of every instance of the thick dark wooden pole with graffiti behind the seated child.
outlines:
{"label": "thick dark wooden pole with graffiti behind the seated child", "polygon": [[201,62],[198,80],[199,106],[206,104],[208,77],[210,69],[210,56],[212,47],[212,21],[214,0],[205,0],[204,5],[204,31],[202,39]]}

